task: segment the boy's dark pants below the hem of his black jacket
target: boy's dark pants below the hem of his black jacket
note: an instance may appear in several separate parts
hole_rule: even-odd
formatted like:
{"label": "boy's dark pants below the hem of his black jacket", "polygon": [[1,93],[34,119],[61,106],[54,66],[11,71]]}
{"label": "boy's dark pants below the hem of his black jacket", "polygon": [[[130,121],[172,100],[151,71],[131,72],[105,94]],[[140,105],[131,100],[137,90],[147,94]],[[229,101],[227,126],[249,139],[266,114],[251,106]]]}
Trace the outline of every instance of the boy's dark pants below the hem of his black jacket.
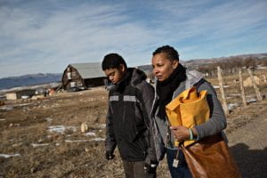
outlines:
{"label": "boy's dark pants below the hem of his black jacket", "polygon": [[[144,166],[144,161],[126,161],[123,160],[123,165],[125,169],[125,178],[156,178],[155,173],[146,173]],[[156,169],[155,169],[156,170]]]}

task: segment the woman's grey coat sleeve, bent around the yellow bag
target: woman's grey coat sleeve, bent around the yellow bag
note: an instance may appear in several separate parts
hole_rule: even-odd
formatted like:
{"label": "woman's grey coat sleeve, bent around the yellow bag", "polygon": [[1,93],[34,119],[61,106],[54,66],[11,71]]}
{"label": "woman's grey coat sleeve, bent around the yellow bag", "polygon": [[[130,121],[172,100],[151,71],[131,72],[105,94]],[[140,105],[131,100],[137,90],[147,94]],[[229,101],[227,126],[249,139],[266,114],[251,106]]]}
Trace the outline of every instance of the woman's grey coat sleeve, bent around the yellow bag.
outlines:
{"label": "woman's grey coat sleeve, bent around the yellow bag", "polygon": [[203,90],[207,91],[206,101],[210,107],[210,118],[206,121],[206,123],[195,126],[198,131],[198,139],[220,133],[227,126],[223,107],[217,98],[214,87],[205,81],[198,86],[198,92]]}

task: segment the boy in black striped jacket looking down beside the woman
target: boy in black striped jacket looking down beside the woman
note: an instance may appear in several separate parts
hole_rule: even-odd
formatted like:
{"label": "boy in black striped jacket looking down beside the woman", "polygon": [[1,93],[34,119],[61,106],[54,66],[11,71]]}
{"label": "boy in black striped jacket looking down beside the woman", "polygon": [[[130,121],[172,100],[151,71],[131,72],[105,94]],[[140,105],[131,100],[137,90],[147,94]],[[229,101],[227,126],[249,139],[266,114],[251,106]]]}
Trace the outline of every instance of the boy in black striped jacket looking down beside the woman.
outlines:
{"label": "boy in black striped jacket looking down beside the woman", "polygon": [[126,178],[156,177],[158,162],[149,129],[153,87],[141,70],[127,68],[117,53],[104,57],[102,70],[114,85],[109,91],[106,158],[114,158],[117,146]]}

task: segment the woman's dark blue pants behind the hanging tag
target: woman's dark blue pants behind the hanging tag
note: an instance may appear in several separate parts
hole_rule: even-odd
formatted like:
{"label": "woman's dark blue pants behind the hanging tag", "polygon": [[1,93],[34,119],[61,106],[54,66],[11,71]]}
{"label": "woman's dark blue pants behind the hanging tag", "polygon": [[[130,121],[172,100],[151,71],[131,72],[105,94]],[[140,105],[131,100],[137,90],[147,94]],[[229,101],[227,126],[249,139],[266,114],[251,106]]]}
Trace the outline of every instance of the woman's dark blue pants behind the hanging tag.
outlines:
{"label": "woman's dark blue pants behind the hanging tag", "polygon": [[173,178],[191,178],[189,167],[186,164],[185,158],[183,156],[182,150],[179,151],[178,167],[174,167],[174,158],[177,153],[177,150],[166,149],[166,158],[169,166],[170,173]]}

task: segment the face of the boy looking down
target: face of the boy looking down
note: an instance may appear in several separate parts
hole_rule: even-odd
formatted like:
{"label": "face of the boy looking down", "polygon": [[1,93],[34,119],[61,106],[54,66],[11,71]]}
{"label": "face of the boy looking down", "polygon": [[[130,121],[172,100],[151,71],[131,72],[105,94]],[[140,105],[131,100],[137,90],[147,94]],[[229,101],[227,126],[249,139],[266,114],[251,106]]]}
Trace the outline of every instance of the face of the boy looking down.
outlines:
{"label": "face of the boy looking down", "polygon": [[125,66],[121,64],[118,69],[105,69],[104,72],[112,84],[117,84],[125,75]]}

